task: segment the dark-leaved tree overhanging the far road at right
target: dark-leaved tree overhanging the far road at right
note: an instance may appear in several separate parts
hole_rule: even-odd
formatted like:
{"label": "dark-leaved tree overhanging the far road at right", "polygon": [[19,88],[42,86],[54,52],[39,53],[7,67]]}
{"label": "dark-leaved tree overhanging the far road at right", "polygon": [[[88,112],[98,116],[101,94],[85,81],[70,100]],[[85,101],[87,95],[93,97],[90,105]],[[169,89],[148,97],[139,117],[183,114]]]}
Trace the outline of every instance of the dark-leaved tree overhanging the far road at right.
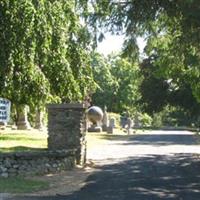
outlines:
{"label": "dark-leaved tree overhanging the far road at right", "polygon": [[[163,43],[162,43],[163,44]],[[154,51],[155,53],[155,51]],[[149,114],[162,111],[167,105],[182,109],[190,118],[199,115],[199,103],[192,94],[191,85],[184,77],[161,76],[161,69],[166,70],[164,63],[158,61],[162,55],[151,55],[141,64],[141,72],[144,79],[140,85],[141,100],[145,112]],[[166,57],[165,57],[166,58]],[[166,63],[165,63],[166,64]],[[159,74],[159,76],[158,76]],[[175,79],[178,78],[178,81]]]}

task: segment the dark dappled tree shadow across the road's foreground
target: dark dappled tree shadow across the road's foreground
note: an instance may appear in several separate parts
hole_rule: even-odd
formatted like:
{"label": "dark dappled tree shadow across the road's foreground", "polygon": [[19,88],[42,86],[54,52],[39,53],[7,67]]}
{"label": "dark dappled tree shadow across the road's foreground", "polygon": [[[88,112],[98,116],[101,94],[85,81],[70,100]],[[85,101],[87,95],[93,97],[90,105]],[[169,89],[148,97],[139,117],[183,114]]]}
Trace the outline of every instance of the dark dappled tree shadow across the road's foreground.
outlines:
{"label": "dark dappled tree shadow across the road's foreground", "polygon": [[86,185],[70,195],[20,200],[199,200],[199,169],[192,154],[130,157],[97,166]]}

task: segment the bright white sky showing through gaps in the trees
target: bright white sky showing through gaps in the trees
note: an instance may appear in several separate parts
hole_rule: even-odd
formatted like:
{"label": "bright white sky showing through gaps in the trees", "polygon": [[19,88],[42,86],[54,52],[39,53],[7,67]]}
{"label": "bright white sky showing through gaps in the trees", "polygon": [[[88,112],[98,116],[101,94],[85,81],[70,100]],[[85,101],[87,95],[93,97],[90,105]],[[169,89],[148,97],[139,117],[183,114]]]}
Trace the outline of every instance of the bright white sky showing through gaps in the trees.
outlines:
{"label": "bright white sky showing through gaps in the trees", "polygon": [[[124,37],[120,35],[111,35],[110,33],[105,34],[105,39],[98,43],[97,51],[107,56],[112,52],[119,52],[123,45]],[[143,38],[137,39],[140,53],[143,52],[146,42]]]}

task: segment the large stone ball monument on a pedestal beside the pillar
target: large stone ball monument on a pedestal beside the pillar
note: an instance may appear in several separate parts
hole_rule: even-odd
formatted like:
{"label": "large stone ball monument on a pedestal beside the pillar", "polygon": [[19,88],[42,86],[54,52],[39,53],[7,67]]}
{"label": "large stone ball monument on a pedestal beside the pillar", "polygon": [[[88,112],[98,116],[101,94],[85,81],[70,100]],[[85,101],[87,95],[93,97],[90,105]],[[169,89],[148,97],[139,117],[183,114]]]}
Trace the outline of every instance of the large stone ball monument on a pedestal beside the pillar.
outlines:
{"label": "large stone ball monument on a pedestal beside the pillar", "polygon": [[87,110],[87,117],[92,125],[88,128],[88,132],[101,132],[102,128],[99,125],[103,119],[103,111],[98,106],[92,106]]}

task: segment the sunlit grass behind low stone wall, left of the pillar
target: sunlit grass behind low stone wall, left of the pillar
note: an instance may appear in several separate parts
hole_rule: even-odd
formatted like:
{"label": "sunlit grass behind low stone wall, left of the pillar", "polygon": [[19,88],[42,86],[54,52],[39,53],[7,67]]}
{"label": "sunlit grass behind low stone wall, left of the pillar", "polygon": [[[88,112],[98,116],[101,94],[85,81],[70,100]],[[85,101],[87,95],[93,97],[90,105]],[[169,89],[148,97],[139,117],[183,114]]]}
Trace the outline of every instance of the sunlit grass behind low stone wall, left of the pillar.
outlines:
{"label": "sunlit grass behind low stone wall, left of the pillar", "polygon": [[0,153],[18,151],[37,151],[47,148],[47,134],[36,130],[1,131]]}

